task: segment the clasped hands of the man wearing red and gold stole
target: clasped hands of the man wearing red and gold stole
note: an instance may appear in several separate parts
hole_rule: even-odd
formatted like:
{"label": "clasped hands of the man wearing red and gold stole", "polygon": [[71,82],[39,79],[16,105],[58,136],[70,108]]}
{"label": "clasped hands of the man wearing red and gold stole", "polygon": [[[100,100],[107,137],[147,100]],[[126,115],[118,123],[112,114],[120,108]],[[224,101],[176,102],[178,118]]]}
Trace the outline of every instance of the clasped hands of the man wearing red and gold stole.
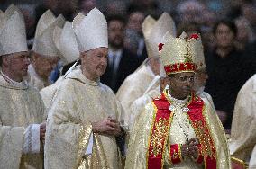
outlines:
{"label": "clasped hands of the man wearing red and gold stole", "polygon": [[186,144],[183,144],[181,147],[182,156],[189,156],[193,159],[197,159],[198,156],[198,141],[197,138],[191,138],[187,141]]}

